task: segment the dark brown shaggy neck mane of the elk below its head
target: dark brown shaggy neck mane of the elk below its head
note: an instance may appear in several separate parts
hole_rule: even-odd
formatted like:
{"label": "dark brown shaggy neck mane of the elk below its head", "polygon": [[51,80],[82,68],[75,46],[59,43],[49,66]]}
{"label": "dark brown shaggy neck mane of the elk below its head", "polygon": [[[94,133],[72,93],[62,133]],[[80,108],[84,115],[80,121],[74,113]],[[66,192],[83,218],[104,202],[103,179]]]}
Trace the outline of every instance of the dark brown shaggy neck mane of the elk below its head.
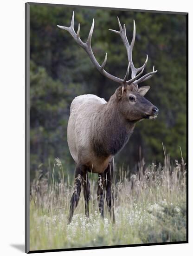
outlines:
{"label": "dark brown shaggy neck mane of the elk below its head", "polygon": [[92,127],[93,148],[98,157],[116,155],[129,141],[135,127],[134,122],[127,121],[119,111],[119,101],[113,94],[102,105]]}

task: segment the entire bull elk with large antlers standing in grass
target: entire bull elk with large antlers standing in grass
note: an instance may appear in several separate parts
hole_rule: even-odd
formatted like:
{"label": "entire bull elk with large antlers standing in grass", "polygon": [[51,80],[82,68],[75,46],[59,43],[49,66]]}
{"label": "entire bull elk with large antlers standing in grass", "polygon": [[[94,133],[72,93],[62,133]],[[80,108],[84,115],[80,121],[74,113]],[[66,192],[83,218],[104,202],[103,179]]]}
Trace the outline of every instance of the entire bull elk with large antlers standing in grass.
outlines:
{"label": "entire bull elk with large antlers standing in grass", "polygon": [[[107,53],[103,64],[100,65],[92,52],[91,38],[94,19],[85,43],[80,39],[80,24],[78,24],[77,33],[74,30],[74,12],[70,27],[57,25],[71,34],[77,44],[89,55],[90,60],[101,74],[120,84],[108,102],[96,95],[85,94],[77,96],[71,103],[67,137],[71,156],[76,162],[76,170],[75,190],[71,197],[69,223],[77,207],[81,188],[83,188],[85,199],[85,214],[89,217],[90,182],[88,172],[97,173],[99,176],[97,199],[101,216],[104,216],[104,196],[106,194],[111,220],[115,222],[111,189],[114,156],[129,141],[136,122],[143,119],[154,119],[158,115],[158,108],[144,98],[150,87],[142,86],[138,88],[139,83],[149,79],[157,70],[154,70],[153,67],[152,72],[141,77],[148,62],[148,55],[142,67],[136,68],[134,66],[132,52],[135,43],[135,20],[133,38],[131,44],[129,44],[125,24],[122,27],[118,17],[117,19],[119,31],[109,30],[121,36],[127,50],[129,65],[123,79],[109,74],[104,69],[107,62]],[[128,80],[129,68],[131,68],[131,79]]]}

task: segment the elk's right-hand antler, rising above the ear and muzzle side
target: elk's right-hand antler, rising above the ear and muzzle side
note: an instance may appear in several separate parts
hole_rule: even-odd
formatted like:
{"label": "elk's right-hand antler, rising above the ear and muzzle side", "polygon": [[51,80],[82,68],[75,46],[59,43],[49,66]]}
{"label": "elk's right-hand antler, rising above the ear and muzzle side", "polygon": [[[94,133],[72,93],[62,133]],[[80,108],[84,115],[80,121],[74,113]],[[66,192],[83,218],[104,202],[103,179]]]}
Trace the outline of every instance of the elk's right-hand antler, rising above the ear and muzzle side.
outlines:
{"label": "elk's right-hand antler, rising above the ear and muzzle side", "polygon": [[[140,82],[146,81],[147,79],[149,79],[153,74],[157,73],[157,70],[154,71],[154,67],[153,67],[153,71],[152,72],[143,75],[141,78],[139,78],[137,80],[137,78],[140,77],[140,75],[144,71],[144,68],[147,65],[148,54],[147,54],[146,61],[144,62],[143,66],[136,68],[134,66],[134,64],[133,64],[133,61],[132,61],[132,52],[133,52],[133,47],[134,47],[134,43],[135,43],[135,20],[133,21],[133,23],[134,23],[133,24],[133,38],[132,38],[132,41],[131,41],[131,45],[129,45],[129,42],[128,42],[128,39],[127,39],[125,24],[123,25],[123,28],[122,28],[122,25],[121,25],[121,22],[119,20],[119,17],[117,17],[117,20],[118,20],[120,31],[116,31],[114,29],[109,29],[109,30],[114,32],[114,33],[116,33],[116,34],[119,34],[121,36],[123,44],[124,44],[124,46],[125,46],[125,48],[127,50],[128,61],[130,62],[130,67],[131,67],[131,79],[129,81],[126,81],[126,84],[131,84],[134,81],[135,81],[136,84],[139,84]],[[140,72],[140,73],[137,74],[138,72]]]}

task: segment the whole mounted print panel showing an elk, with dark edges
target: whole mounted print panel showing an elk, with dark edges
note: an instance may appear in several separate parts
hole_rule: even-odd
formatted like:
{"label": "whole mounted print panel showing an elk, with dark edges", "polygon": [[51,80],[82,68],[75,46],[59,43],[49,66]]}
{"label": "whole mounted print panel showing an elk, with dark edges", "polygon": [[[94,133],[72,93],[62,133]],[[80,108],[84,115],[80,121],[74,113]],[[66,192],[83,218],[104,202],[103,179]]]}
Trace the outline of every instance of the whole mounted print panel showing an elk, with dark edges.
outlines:
{"label": "whole mounted print panel showing an elk, with dark edges", "polygon": [[187,243],[187,13],[26,3],[26,252]]}

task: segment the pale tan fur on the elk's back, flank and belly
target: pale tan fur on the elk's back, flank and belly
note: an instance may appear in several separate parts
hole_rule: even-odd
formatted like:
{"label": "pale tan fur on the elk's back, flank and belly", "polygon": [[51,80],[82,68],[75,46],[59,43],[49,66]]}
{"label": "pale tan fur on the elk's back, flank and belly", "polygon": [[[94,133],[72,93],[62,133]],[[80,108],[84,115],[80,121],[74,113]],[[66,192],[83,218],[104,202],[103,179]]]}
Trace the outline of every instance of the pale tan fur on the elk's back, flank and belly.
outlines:
{"label": "pale tan fur on the elk's back, flank and belly", "polygon": [[68,146],[76,164],[86,165],[93,173],[102,173],[113,155],[97,157],[91,138],[97,126],[97,115],[107,101],[93,94],[76,97],[71,103],[68,121]]}

